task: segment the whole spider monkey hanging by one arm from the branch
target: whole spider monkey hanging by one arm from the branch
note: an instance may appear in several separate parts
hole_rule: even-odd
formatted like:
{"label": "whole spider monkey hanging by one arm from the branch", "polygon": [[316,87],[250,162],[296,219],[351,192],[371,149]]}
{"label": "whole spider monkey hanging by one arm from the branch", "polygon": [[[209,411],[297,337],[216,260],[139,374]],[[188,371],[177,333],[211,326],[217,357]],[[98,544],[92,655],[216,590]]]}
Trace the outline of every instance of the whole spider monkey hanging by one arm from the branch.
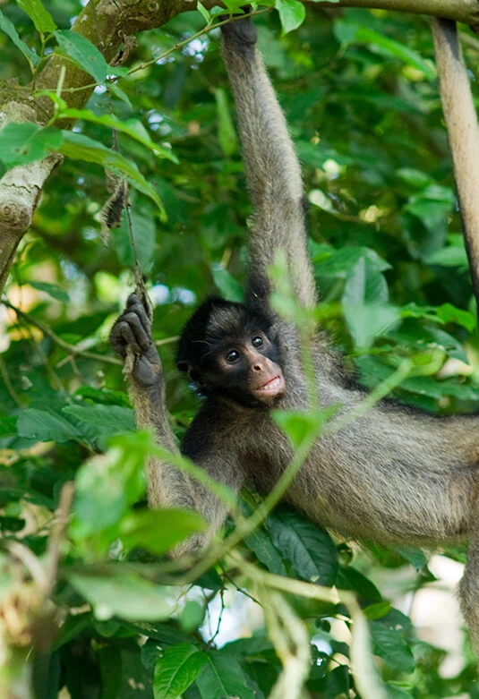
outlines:
{"label": "whole spider monkey hanging by one arm from the branch", "polygon": [[[298,302],[317,303],[306,250],[301,170],[285,117],[255,47],[249,18],[222,28],[223,55],[234,95],[253,205],[249,276],[244,303],[210,298],[186,323],[177,366],[205,400],[181,451],[211,477],[235,490],[247,483],[268,492],[293,457],[270,409],[307,406],[296,328],[269,303],[267,270],[274,251],[286,256]],[[131,392],[139,427],[153,425],[158,442],[178,453],[167,420],[163,369],[150,318],[136,295],[111,333],[115,351],[136,356]],[[350,411],[364,398],[343,378],[324,337],[313,343],[321,407]],[[446,543],[469,535],[461,598],[479,649],[479,537],[476,494],[479,439],[475,418],[434,417],[382,401],[355,422],[318,439],[286,499],[313,521],[355,538],[412,545]],[[167,462],[147,465],[152,507],[192,507],[217,531],[226,507],[201,483]],[[198,551],[210,535],[187,540]]]}

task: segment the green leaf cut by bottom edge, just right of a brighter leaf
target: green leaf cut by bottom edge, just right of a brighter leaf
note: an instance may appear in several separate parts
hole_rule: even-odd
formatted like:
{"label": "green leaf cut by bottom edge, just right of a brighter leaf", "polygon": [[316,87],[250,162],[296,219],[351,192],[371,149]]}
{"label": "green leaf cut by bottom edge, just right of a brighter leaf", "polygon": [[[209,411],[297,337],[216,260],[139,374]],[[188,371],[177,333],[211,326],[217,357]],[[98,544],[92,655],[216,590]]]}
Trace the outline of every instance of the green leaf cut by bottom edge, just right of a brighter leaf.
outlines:
{"label": "green leaf cut by bottom edge, just right of a brighter leaf", "polygon": [[196,686],[201,699],[258,699],[249,686],[244,669],[231,655],[209,653],[208,662],[196,678]]}

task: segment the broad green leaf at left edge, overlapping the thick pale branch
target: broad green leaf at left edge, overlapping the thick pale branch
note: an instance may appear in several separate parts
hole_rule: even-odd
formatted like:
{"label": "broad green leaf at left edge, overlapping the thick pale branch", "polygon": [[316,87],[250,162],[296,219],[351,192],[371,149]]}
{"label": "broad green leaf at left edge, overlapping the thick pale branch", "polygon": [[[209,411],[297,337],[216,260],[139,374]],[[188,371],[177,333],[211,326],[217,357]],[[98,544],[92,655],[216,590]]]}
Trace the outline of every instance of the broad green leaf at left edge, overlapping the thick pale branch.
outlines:
{"label": "broad green leaf at left edge, overlapping the thick pale branch", "polygon": [[62,132],[53,127],[10,122],[0,131],[0,159],[5,167],[27,165],[57,151],[62,141]]}

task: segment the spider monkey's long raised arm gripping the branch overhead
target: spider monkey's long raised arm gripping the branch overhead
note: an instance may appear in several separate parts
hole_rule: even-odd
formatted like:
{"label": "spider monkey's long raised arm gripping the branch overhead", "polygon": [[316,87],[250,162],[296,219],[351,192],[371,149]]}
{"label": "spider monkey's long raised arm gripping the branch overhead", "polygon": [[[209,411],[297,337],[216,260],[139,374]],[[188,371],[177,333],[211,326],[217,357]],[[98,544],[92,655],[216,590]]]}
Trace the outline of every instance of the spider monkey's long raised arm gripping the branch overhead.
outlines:
{"label": "spider monkey's long raised arm gripping the branch overhead", "polygon": [[301,169],[285,117],[255,48],[256,39],[248,17],[223,27],[223,55],[235,95],[246,182],[254,209],[247,301],[266,300],[270,291],[267,270],[275,251],[282,249],[296,296],[305,307],[311,307],[316,303],[316,292],[306,249]]}

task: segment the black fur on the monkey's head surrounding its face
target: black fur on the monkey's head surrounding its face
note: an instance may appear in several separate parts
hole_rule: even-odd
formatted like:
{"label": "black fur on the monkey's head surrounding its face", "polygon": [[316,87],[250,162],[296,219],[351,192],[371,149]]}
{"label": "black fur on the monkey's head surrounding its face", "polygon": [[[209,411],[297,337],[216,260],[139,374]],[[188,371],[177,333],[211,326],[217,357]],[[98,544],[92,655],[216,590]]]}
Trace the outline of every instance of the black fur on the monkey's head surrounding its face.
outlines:
{"label": "black fur on the monkey's head surrounding its face", "polygon": [[261,333],[266,339],[258,354],[279,365],[278,342],[272,337],[272,326],[272,318],[261,308],[210,297],[184,326],[176,365],[189,374],[204,396],[222,394],[242,404],[258,405],[247,390],[251,363],[240,361],[234,369],[221,371],[217,360],[229,347]]}

